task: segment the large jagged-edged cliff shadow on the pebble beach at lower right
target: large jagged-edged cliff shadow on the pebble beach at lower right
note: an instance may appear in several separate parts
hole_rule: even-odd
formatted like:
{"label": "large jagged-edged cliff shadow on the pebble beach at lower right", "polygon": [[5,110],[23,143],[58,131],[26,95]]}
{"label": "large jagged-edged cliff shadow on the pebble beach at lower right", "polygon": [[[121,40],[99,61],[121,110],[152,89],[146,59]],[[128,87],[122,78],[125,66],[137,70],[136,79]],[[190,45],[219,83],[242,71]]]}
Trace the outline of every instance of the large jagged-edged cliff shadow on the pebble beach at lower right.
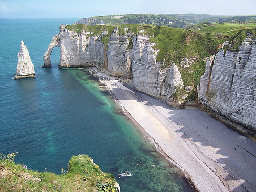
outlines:
{"label": "large jagged-edged cliff shadow on the pebble beach at lower right", "polygon": [[[255,187],[256,143],[200,110],[174,110],[168,119],[186,142],[192,142],[205,154],[203,162],[214,163],[214,172],[231,191],[251,191]],[[206,153],[205,153],[206,152]],[[216,168],[217,167],[217,168]],[[223,168],[221,168],[223,167]],[[212,169],[213,169],[212,168]]]}

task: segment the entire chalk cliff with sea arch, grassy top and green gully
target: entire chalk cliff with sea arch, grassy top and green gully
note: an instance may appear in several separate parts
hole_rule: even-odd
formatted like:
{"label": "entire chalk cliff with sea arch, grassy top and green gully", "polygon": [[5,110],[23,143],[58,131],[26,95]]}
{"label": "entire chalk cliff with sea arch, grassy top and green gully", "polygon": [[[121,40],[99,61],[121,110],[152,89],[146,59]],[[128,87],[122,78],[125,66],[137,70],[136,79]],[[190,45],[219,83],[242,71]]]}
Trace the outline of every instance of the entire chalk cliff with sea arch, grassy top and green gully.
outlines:
{"label": "entire chalk cliff with sea arch, grassy top and green gully", "polygon": [[[226,45],[217,53],[220,39],[182,29],[61,25],[60,33],[53,37],[44,55],[43,67],[51,67],[51,51],[58,46],[59,68],[95,66],[112,76],[133,78],[139,91],[177,108],[182,108],[184,101],[189,101],[186,105],[205,105],[208,112],[216,112],[237,123],[234,127],[240,126],[240,131],[250,130],[253,134],[253,38],[247,38],[239,48]],[[238,51],[227,51],[228,46]],[[216,53],[206,62],[205,58]]]}

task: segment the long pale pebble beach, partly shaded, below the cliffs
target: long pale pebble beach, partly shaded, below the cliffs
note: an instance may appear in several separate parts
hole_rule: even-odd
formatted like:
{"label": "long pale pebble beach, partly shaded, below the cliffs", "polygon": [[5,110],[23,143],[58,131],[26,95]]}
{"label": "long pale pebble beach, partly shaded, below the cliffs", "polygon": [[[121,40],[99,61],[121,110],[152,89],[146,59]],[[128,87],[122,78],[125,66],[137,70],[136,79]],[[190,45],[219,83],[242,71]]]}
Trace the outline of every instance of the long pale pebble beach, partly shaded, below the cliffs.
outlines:
{"label": "long pale pebble beach, partly shaded, below the cliffs", "polygon": [[[256,143],[197,109],[178,110],[94,70],[196,190],[255,191]],[[130,80],[131,81],[131,80]],[[127,83],[126,83],[127,82]]]}

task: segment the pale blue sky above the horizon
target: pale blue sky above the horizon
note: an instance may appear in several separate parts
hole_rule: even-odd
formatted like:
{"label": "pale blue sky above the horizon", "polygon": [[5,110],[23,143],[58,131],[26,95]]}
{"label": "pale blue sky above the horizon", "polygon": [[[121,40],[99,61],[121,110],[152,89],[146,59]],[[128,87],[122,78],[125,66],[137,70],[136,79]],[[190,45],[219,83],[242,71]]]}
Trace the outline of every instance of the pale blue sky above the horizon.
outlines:
{"label": "pale blue sky above the horizon", "polygon": [[256,0],[0,0],[0,18],[85,18],[128,13],[256,15]]}

